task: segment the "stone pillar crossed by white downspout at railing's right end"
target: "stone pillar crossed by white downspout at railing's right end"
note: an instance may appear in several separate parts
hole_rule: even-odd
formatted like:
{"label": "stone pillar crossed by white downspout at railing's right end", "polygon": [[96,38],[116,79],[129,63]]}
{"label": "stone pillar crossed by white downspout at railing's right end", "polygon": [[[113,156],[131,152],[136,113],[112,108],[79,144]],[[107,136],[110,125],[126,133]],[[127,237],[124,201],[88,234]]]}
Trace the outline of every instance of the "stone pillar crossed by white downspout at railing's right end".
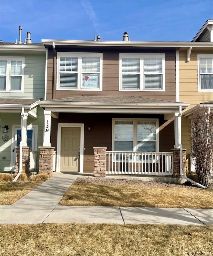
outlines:
{"label": "stone pillar crossed by white downspout at railing's right end", "polygon": [[[186,150],[183,149],[183,175],[186,176],[186,169],[187,169],[187,163],[186,163]],[[173,176],[175,178],[180,178],[180,149],[171,149],[173,151]]]}

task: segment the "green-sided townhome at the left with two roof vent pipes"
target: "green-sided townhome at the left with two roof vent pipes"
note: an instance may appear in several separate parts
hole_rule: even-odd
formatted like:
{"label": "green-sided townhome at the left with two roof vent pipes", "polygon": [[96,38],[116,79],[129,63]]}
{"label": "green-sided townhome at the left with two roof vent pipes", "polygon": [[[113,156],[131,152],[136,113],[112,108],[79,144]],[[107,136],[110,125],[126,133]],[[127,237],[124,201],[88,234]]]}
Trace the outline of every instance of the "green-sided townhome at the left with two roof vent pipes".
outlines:
{"label": "green-sided townhome at the left with two roof vent pipes", "polygon": [[1,42],[0,58],[0,148],[1,172],[18,172],[19,146],[22,146],[22,171],[38,171],[43,145],[44,110],[38,101],[45,94],[46,49],[42,43]]}

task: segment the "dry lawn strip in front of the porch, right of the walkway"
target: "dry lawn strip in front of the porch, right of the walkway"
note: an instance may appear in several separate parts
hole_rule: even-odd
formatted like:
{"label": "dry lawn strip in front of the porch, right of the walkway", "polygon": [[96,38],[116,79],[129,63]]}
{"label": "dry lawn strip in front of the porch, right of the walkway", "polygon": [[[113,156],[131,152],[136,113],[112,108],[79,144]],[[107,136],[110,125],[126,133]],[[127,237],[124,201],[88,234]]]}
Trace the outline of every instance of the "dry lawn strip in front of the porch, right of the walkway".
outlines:
{"label": "dry lawn strip in front of the porch, right of the walkway", "polygon": [[213,190],[74,183],[59,204],[70,206],[213,208]]}

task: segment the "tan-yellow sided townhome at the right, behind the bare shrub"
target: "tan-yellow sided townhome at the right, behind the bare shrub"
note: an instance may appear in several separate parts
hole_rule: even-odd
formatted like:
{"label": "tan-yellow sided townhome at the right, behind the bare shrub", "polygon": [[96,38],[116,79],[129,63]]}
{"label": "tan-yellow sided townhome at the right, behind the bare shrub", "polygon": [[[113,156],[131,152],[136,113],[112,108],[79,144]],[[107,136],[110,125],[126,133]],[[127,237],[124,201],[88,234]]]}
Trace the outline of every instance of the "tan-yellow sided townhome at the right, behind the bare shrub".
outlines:
{"label": "tan-yellow sided townhome at the right, behind the bare shrub", "polygon": [[[202,47],[194,47],[194,44],[203,42]],[[213,111],[213,20],[207,20],[198,31],[188,48],[179,49],[179,98],[190,105],[183,110],[182,145],[187,149],[187,173],[188,177],[197,180],[191,144],[189,140],[190,129],[188,117],[191,108],[200,105],[209,107]],[[213,145],[212,145],[213,147]]]}

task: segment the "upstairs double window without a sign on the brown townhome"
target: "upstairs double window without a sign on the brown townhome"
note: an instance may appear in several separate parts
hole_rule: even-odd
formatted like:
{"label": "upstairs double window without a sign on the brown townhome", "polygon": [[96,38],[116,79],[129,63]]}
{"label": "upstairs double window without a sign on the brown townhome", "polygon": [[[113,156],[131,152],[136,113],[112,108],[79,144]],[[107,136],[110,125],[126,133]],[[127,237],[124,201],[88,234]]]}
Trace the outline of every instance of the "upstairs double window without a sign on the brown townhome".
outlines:
{"label": "upstairs double window without a sign on the brown townhome", "polygon": [[120,54],[120,89],[165,91],[164,54]]}

